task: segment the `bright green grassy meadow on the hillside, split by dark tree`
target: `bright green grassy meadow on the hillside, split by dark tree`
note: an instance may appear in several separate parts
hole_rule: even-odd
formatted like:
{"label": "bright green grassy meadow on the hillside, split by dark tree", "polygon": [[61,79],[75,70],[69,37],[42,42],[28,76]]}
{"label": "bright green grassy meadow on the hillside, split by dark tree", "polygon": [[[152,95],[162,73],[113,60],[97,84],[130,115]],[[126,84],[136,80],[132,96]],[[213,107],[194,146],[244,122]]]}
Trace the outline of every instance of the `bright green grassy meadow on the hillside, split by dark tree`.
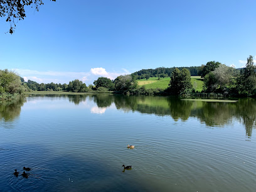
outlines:
{"label": "bright green grassy meadow on the hillside, split by dark tree", "polygon": [[[166,89],[169,85],[170,79],[171,78],[169,77],[165,77],[165,78],[160,78],[158,80],[158,77],[151,77],[148,80],[146,80],[146,78],[137,80],[137,83],[139,87],[144,85],[146,89],[149,89],[149,88]],[[200,76],[191,76],[191,83],[193,85],[193,88],[195,88],[196,91],[201,92],[201,90],[203,90],[203,78],[201,78]]]}

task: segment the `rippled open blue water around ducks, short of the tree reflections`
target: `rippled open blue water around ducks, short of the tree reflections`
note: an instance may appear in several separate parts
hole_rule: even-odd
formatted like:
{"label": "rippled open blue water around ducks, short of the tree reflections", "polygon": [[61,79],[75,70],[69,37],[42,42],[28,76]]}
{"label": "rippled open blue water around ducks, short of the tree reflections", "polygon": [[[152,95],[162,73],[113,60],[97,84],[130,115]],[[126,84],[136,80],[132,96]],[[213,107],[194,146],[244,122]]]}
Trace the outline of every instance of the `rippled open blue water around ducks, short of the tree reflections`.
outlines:
{"label": "rippled open blue water around ducks, short of the tree reflections", "polygon": [[[43,102],[40,112],[24,104],[20,119],[10,124],[14,129],[1,128],[4,191],[254,189],[254,141],[241,137],[240,122],[209,127],[190,117],[174,121],[116,109],[91,114],[80,105],[65,109],[65,99],[58,102],[60,110]],[[136,147],[127,149],[127,144]],[[122,172],[122,164],[132,170]],[[23,166],[32,168],[28,179],[13,175]]]}

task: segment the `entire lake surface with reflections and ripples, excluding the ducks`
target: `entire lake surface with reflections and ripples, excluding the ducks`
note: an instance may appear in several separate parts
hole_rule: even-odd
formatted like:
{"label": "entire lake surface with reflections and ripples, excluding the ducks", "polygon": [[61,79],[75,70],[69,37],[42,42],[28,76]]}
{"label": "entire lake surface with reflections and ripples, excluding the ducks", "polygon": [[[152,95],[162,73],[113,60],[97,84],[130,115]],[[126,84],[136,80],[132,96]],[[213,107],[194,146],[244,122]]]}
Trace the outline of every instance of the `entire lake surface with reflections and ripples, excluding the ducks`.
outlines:
{"label": "entire lake surface with reflections and ripples, excluding the ducks", "polygon": [[255,119],[255,99],[101,94],[4,102],[0,191],[255,191]]}

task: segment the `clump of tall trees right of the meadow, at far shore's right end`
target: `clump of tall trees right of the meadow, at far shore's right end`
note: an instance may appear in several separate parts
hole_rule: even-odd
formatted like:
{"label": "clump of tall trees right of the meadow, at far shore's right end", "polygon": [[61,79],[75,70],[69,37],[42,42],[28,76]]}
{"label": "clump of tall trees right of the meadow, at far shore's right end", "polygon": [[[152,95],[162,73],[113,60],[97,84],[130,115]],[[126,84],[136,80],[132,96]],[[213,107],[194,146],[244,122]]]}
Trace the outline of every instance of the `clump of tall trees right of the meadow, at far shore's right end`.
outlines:
{"label": "clump of tall trees right of the meadow, at far shore's right end", "polygon": [[201,75],[204,77],[203,91],[230,96],[256,95],[255,70],[252,55],[247,58],[245,68],[240,70],[219,62],[208,62],[201,66]]}

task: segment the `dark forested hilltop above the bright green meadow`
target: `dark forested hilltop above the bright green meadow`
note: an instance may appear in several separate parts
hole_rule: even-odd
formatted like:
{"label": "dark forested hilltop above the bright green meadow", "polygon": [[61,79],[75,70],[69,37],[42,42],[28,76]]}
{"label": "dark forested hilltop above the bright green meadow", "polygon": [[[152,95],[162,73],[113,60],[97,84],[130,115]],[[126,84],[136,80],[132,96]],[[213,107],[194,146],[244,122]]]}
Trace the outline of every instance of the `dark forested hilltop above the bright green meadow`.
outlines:
{"label": "dark forested hilltop above the bright green meadow", "polygon": [[[170,77],[171,76],[171,72],[173,72],[173,70],[176,67],[171,67],[171,68],[166,68],[166,67],[159,67],[156,69],[142,69],[139,70],[138,72],[134,72],[131,75],[134,76],[136,79],[142,79],[142,78],[149,78],[149,77]],[[189,70],[191,76],[198,76],[198,72],[200,67],[177,67],[179,70],[182,70],[183,68],[186,68],[187,70]]]}

